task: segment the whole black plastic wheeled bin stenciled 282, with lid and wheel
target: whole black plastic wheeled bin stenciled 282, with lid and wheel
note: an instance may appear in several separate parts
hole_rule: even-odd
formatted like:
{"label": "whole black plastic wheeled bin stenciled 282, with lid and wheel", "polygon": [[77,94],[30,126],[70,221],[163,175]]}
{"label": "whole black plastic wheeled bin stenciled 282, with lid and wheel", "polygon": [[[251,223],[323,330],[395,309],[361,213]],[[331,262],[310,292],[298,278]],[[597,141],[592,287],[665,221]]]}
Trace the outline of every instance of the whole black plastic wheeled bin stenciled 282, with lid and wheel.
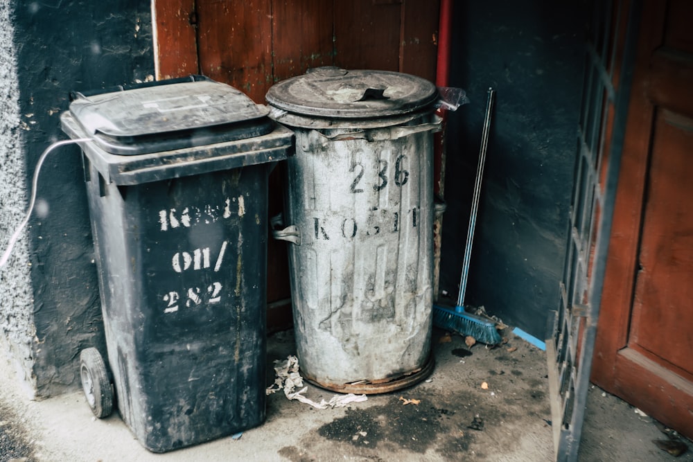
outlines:
{"label": "whole black plastic wheeled bin stenciled 282, with lid and wheel", "polygon": [[[82,352],[94,414],[113,404],[166,452],[265,419],[267,177],[292,133],[200,76],[75,94],[107,362]],[[107,364],[110,365],[110,371]]]}

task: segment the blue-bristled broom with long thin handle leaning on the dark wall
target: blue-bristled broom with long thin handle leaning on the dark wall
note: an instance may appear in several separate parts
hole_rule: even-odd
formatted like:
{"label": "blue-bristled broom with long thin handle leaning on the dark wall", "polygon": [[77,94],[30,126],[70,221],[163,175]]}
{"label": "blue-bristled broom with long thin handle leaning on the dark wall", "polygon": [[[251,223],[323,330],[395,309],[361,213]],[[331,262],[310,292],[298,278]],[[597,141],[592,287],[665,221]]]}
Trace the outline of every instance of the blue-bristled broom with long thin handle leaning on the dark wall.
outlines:
{"label": "blue-bristled broom with long thin handle leaning on the dark wall", "polygon": [[493,107],[493,97],[495,90],[489,88],[488,100],[486,101],[486,116],[484,118],[484,130],[482,132],[479,162],[477,164],[477,176],[474,184],[474,197],[472,199],[472,209],[469,215],[469,227],[467,229],[467,241],[464,247],[464,260],[462,262],[462,277],[459,281],[459,295],[457,296],[457,306],[446,308],[433,305],[433,324],[439,328],[453,330],[462,335],[474,337],[477,341],[484,344],[500,344],[501,338],[495,328],[495,322],[464,310],[464,293],[467,287],[467,275],[469,272],[469,261],[471,258],[472,243],[474,240],[474,228],[476,226],[476,215],[479,208],[479,195],[481,192],[481,180],[484,175],[484,163],[486,161],[486,147],[489,144],[489,129],[491,127],[491,108]]}

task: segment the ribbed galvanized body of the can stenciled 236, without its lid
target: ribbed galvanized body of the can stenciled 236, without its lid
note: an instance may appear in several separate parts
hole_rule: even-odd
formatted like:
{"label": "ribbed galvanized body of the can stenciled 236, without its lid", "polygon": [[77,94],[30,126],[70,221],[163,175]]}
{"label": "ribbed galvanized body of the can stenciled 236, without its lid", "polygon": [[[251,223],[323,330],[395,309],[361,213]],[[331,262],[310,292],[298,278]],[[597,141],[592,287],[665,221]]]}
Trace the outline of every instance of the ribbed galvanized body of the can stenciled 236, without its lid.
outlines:
{"label": "ribbed galvanized body of the can stenciled 236, without its lid", "polygon": [[289,247],[297,353],[329,389],[392,391],[428,371],[439,121],[388,125],[294,127],[285,222],[300,239]]}

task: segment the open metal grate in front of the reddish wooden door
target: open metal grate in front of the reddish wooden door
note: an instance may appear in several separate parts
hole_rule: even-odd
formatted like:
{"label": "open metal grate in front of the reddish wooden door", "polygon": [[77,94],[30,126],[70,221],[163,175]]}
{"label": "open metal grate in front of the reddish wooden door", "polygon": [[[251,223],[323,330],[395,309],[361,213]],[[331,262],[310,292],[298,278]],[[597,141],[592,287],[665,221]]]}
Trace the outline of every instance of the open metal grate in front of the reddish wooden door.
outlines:
{"label": "open metal grate in front of the reddish wooden door", "polygon": [[639,0],[594,0],[558,310],[546,353],[556,461],[577,461],[628,113]]}

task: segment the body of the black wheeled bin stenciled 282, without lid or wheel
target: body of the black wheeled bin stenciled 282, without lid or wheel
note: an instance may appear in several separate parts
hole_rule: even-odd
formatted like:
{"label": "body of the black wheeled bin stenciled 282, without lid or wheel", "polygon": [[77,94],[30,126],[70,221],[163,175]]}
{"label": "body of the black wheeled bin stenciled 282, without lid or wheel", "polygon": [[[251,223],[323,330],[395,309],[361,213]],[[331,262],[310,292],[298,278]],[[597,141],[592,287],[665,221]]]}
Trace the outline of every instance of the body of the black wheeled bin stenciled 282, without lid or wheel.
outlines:
{"label": "body of the black wheeled bin stenciled 282, without lid or wheel", "polygon": [[152,452],[265,419],[267,177],[292,139],[272,124],[127,156],[80,143],[117,406]]}

